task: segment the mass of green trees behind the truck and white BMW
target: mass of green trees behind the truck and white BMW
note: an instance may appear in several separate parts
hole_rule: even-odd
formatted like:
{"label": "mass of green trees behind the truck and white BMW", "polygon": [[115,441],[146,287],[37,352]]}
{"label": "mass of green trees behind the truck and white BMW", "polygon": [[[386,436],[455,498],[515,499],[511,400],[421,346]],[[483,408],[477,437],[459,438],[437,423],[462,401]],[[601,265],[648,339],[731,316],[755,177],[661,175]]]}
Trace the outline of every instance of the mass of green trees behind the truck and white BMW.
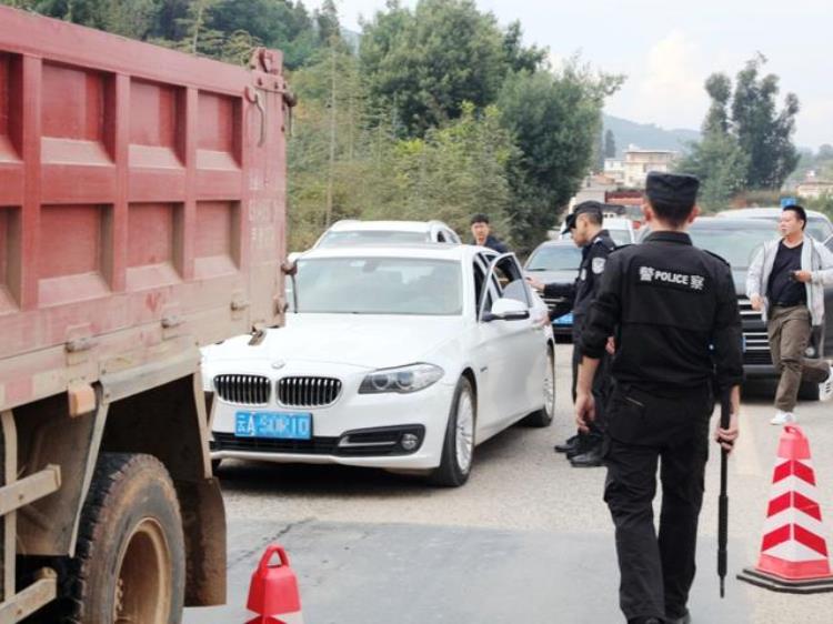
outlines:
{"label": "mass of green trees behind the truck and white BMW", "polygon": [[549,71],[518,22],[501,28],[474,0],[389,0],[358,52],[333,0],[312,13],[301,0],[0,2],[239,64],[255,47],[281,49],[300,101],[291,250],[338,219],[441,219],[465,234],[488,212],[522,251],[554,224],[593,151],[611,149],[601,109],[622,79],[576,60]]}

